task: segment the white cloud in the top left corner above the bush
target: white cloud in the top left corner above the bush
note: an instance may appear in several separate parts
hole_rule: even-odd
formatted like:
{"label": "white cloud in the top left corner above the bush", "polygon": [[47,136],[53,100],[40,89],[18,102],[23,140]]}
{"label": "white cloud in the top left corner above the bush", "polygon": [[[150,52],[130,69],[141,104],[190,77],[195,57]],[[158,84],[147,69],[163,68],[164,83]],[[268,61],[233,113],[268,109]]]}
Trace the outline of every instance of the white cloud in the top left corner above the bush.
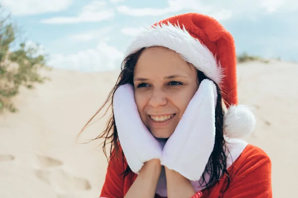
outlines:
{"label": "white cloud in the top left corner above the bush", "polygon": [[67,9],[73,0],[1,0],[14,16],[58,12]]}

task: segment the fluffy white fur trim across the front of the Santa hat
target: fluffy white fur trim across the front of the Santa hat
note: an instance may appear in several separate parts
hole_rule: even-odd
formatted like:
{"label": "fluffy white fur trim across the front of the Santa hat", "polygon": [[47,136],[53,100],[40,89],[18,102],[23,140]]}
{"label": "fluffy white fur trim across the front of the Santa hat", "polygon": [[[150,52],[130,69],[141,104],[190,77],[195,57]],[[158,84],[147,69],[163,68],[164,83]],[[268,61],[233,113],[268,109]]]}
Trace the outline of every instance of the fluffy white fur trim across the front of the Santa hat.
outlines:
{"label": "fluffy white fur trim across the front of the Santa hat", "polygon": [[162,46],[176,51],[181,57],[192,63],[206,76],[214,80],[218,85],[223,80],[223,68],[217,63],[213,53],[198,39],[193,38],[187,30],[178,25],[163,23],[144,29],[132,41],[125,57],[144,47]]}

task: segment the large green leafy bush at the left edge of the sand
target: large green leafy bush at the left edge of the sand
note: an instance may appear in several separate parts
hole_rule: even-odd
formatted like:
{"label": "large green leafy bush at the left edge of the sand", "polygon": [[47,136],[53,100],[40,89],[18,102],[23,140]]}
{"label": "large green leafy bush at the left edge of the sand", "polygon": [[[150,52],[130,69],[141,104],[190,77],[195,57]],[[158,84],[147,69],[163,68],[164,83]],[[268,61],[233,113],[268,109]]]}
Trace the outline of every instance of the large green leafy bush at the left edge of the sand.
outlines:
{"label": "large green leafy bush at the left edge of the sand", "polygon": [[38,45],[28,47],[26,42],[19,42],[12,49],[16,33],[17,28],[10,18],[0,16],[0,112],[4,109],[17,111],[11,99],[19,93],[21,86],[32,89],[34,83],[48,79],[38,73],[41,68],[47,68],[45,56],[37,54]]}

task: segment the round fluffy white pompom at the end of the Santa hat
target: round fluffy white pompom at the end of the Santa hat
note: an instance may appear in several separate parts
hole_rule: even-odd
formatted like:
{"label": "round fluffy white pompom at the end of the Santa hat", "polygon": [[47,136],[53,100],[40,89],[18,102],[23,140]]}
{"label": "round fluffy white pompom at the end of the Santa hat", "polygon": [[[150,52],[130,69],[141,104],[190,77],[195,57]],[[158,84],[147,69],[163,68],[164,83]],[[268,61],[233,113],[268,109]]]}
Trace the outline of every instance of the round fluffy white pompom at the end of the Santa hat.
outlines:
{"label": "round fluffy white pompom at the end of the Santa hat", "polygon": [[227,137],[247,136],[254,131],[255,126],[255,116],[245,105],[231,105],[224,114],[224,135]]}

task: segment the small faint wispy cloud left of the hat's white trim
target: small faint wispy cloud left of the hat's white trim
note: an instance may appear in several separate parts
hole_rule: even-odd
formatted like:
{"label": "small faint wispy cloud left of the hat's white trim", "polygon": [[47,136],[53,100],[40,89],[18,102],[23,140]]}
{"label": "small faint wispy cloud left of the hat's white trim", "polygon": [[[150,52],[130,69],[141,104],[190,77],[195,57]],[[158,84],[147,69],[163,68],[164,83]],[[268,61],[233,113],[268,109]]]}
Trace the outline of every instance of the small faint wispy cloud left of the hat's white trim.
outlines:
{"label": "small faint wispy cloud left of the hat's white trim", "polygon": [[101,39],[101,41],[107,41],[107,35],[111,31],[111,27],[101,28],[99,30],[86,31],[79,34],[70,35],[69,38],[75,41],[92,41],[95,39]]}

